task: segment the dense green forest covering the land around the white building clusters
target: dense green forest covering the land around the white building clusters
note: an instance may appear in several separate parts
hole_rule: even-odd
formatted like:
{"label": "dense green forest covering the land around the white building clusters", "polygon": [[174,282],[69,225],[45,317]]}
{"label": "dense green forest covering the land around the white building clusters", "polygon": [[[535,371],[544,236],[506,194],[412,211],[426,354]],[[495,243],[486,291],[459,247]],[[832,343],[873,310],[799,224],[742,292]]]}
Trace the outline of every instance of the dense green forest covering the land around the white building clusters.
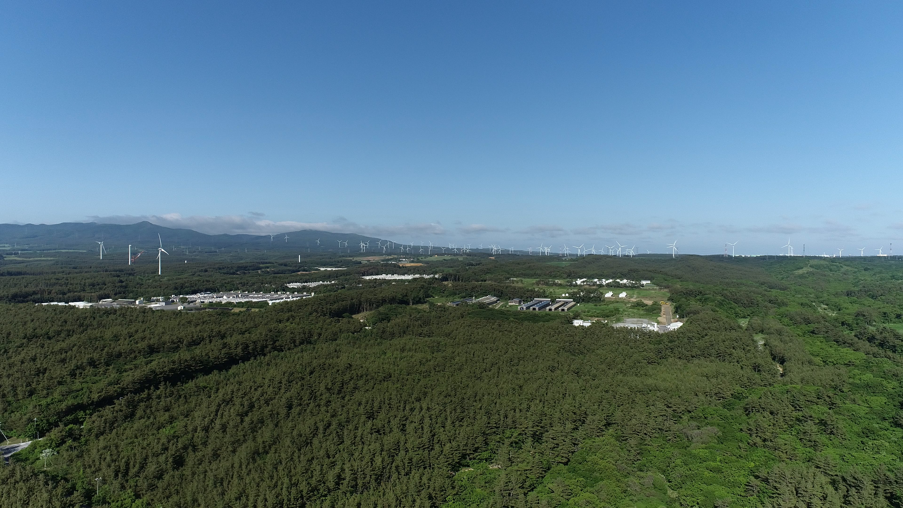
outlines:
{"label": "dense green forest covering the land around the white building clusters", "polygon": [[[896,259],[422,261],[0,261],[0,422],[42,437],[0,505],[903,507]],[[441,277],[360,278],[399,272]],[[685,325],[433,303],[602,277]],[[321,279],[259,312],[32,304]]]}

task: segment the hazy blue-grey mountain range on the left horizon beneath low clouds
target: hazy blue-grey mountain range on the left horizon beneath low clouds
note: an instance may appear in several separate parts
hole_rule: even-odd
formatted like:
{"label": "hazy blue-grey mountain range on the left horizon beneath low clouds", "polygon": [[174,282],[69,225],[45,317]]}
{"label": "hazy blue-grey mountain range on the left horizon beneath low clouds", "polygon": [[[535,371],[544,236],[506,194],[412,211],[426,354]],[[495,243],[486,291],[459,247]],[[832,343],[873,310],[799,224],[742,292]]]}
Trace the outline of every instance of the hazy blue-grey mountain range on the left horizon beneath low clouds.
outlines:
{"label": "hazy blue-grey mountain range on the left horizon beneath low clouds", "polygon": [[[98,224],[97,222],[61,222],[60,224],[0,224],[0,246],[26,250],[92,250],[103,241],[107,250],[153,249],[159,245],[157,235],[163,240],[163,248],[200,249],[339,249],[339,241],[348,242],[352,252],[361,241],[369,241],[371,249],[380,239],[352,233],[300,230],[285,231],[276,235],[208,235],[195,230],[165,228],[141,221],[135,224]],[[288,237],[287,239],[285,237]],[[317,240],[320,240],[318,247]]]}

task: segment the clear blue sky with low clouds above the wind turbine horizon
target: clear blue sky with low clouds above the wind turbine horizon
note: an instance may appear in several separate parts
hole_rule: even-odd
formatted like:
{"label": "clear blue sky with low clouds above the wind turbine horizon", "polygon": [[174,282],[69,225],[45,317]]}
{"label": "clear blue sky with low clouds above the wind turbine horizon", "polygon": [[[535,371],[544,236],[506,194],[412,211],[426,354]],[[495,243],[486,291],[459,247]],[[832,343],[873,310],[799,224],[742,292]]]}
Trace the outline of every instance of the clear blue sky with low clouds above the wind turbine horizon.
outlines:
{"label": "clear blue sky with low clouds above the wind turbine horizon", "polygon": [[3,3],[0,221],[903,251],[903,4],[185,4]]}

